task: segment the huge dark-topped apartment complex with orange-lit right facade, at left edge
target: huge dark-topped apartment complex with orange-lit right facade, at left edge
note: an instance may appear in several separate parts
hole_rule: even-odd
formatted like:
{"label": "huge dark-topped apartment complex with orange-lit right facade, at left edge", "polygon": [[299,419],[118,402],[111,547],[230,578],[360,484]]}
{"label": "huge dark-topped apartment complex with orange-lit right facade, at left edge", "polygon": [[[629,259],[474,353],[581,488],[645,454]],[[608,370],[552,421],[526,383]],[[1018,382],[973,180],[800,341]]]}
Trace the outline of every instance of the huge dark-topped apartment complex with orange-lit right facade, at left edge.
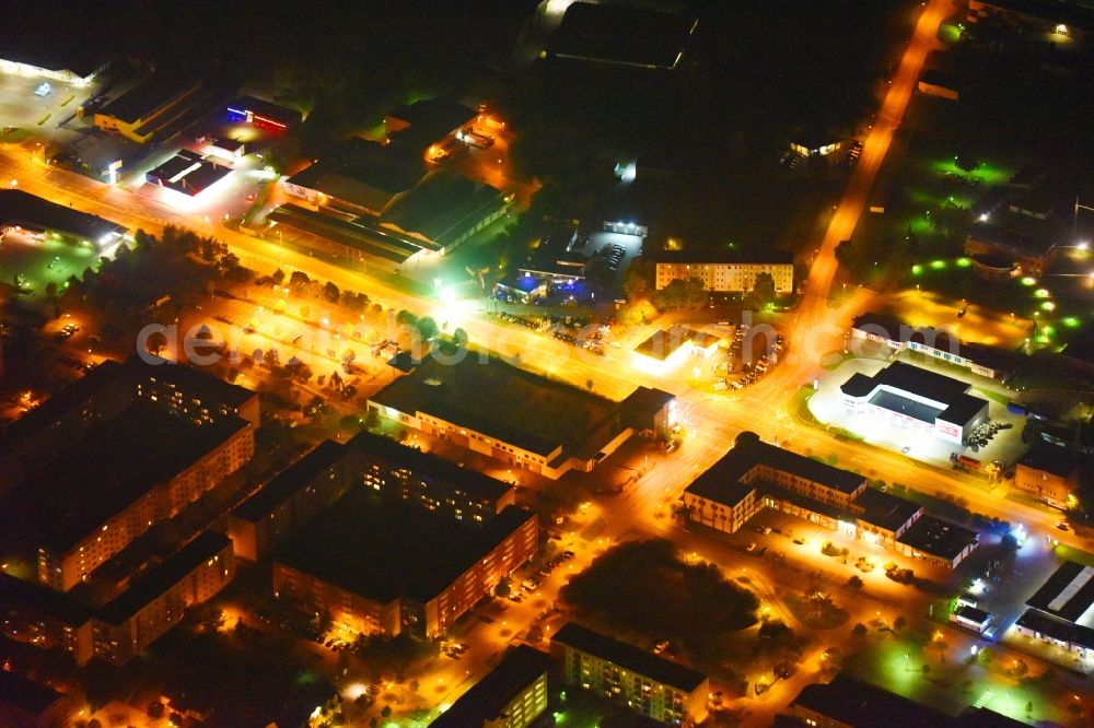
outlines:
{"label": "huge dark-topped apartment complex with orange-lit right facade, at left edge", "polygon": [[0,539],[37,560],[42,583],[71,589],[246,463],[258,421],[258,397],[242,387],[104,362],[4,438]]}

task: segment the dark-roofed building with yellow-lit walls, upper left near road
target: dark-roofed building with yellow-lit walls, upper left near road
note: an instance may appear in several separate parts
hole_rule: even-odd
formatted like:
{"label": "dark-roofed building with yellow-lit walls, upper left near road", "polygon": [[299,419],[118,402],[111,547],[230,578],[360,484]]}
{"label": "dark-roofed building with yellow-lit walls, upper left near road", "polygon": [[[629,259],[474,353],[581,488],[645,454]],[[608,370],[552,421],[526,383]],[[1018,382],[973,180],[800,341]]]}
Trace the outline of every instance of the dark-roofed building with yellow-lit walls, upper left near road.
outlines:
{"label": "dark-roofed building with yellow-lit walls, upper left near road", "polygon": [[146,143],[188,109],[201,79],[183,72],[160,72],[95,111],[95,126]]}

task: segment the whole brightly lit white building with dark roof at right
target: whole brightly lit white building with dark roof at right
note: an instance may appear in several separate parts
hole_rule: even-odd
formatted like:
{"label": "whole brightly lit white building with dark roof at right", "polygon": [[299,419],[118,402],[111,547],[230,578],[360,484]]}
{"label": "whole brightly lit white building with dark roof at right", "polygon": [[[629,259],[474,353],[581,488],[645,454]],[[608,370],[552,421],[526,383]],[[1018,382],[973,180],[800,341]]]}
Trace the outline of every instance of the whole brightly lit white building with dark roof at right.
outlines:
{"label": "whole brightly lit white building with dark roof at right", "polygon": [[851,375],[839,390],[845,414],[874,416],[961,446],[988,419],[988,401],[969,395],[969,388],[959,379],[894,362],[874,376]]}

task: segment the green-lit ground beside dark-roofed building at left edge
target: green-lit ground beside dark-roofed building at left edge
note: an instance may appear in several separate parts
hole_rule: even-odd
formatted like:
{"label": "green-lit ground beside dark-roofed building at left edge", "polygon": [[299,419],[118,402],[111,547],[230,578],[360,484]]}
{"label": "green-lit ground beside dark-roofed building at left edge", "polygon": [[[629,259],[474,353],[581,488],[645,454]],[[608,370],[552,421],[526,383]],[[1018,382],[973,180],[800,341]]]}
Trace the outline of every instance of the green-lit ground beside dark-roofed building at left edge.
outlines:
{"label": "green-lit ground beside dark-roofed building at left edge", "polygon": [[55,235],[40,239],[8,234],[0,244],[0,281],[13,284],[21,275],[24,294],[35,301],[46,297],[49,283],[60,293],[69,278],[83,277],[83,271],[97,268],[98,254],[90,244],[75,244]]}

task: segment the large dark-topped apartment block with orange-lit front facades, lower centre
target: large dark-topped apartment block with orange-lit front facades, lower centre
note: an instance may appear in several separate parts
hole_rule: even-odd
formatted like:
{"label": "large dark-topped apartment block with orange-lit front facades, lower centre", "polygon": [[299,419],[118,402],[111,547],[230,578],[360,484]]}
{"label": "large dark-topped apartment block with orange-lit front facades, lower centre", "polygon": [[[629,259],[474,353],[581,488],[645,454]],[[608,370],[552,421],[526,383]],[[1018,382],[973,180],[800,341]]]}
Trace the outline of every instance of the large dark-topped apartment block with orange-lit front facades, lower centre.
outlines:
{"label": "large dark-topped apartment block with orange-lit front facades, lower centre", "polygon": [[538,538],[536,515],[517,506],[479,524],[351,489],[277,550],[274,592],[356,632],[435,637],[535,555]]}

